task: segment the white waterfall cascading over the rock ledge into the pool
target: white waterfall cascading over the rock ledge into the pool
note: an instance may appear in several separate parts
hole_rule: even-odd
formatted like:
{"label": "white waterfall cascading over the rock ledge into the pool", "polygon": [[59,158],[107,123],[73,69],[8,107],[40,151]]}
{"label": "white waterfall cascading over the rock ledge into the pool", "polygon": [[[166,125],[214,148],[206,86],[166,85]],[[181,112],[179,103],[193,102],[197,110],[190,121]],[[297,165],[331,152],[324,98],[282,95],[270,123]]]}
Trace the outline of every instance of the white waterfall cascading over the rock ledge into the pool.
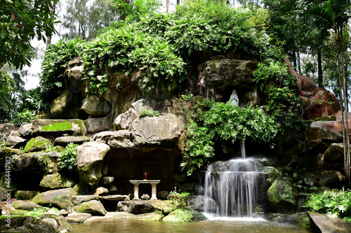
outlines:
{"label": "white waterfall cascading over the rock ledge into the pool", "polygon": [[[204,212],[221,217],[251,217],[265,193],[266,174],[258,171],[252,159],[216,162],[208,166],[204,183]],[[210,200],[216,202],[213,208]],[[213,202],[213,201],[212,201]]]}

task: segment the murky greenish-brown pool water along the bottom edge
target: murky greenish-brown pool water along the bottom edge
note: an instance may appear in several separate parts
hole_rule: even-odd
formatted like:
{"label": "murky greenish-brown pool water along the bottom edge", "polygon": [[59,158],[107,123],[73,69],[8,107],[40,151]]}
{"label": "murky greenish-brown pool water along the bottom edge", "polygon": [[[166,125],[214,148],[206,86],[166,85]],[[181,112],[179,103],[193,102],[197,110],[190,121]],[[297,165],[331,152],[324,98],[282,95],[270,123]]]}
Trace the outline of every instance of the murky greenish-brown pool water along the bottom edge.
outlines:
{"label": "murky greenish-brown pool water along the bottom edge", "polygon": [[135,219],[98,220],[72,225],[71,233],[311,233],[293,225],[268,221],[206,220],[199,223],[143,222]]}

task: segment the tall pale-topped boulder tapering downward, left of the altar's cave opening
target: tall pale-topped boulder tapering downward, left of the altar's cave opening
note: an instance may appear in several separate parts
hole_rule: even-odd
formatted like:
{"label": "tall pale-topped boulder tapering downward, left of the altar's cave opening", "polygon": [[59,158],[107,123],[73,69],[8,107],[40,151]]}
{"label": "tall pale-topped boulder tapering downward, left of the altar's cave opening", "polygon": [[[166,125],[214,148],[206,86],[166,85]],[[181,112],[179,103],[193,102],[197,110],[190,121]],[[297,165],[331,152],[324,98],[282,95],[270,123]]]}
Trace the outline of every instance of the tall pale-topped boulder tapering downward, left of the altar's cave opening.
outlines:
{"label": "tall pale-topped boulder tapering downward, left of the altar's cave opening", "polygon": [[101,170],[105,155],[110,146],[91,141],[77,148],[77,165],[79,173],[79,190],[92,192],[102,177]]}

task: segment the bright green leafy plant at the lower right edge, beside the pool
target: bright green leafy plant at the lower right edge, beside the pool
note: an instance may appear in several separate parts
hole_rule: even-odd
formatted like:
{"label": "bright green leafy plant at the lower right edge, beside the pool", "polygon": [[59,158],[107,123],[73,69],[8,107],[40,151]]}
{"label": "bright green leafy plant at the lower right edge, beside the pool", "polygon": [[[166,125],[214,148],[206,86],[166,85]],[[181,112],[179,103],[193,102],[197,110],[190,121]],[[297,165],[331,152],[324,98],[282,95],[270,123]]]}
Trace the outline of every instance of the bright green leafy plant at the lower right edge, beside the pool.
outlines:
{"label": "bright green leafy plant at the lower right edge, beside the pool", "polygon": [[343,218],[351,222],[351,190],[313,193],[305,206],[314,212],[326,213],[329,218]]}

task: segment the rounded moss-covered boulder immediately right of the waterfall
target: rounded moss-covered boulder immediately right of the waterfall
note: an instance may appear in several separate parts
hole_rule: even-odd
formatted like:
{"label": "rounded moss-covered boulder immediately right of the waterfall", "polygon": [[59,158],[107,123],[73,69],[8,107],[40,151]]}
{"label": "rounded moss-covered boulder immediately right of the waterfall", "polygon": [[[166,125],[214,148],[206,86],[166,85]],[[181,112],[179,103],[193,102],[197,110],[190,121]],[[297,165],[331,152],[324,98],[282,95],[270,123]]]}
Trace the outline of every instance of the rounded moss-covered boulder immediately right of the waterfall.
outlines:
{"label": "rounded moss-covered boulder immediately right of the waterfall", "polygon": [[291,214],[297,209],[298,195],[289,181],[279,179],[268,189],[267,200],[271,211]]}

